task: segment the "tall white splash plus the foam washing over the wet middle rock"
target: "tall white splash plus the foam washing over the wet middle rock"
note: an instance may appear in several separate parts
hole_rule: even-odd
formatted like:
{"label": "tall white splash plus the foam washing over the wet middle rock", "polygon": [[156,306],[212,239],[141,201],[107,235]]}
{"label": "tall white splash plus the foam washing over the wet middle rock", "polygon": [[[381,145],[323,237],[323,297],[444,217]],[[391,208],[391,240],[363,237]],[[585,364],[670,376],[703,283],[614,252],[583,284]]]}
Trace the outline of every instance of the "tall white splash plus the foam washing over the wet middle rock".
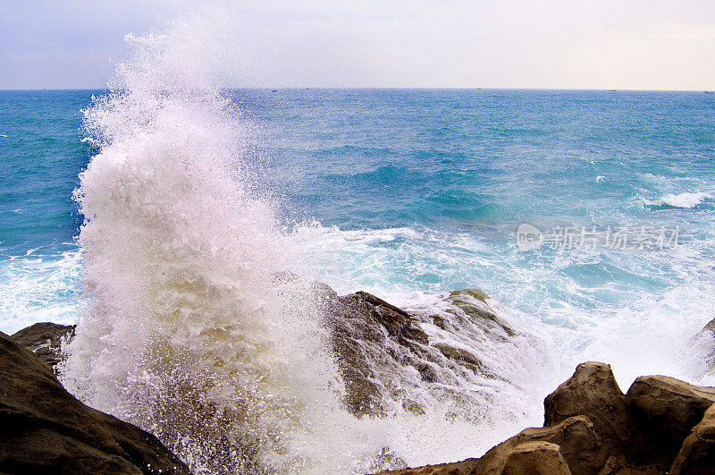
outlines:
{"label": "tall white splash plus the foam washing over the wet middle rock", "polygon": [[[442,301],[414,310],[429,338],[420,351],[442,376],[428,385],[399,359],[368,359],[375,384],[404,382],[419,413],[347,410],[320,296],[291,274],[310,252],[305,232],[282,233],[250,178],[250,132],[216,61],[222,25],[192,17],[128,37],[135,54],[85,113],[97,147],[75,192],[87,310],[65,386],[156,434],[196,473],[376,471],[474,456],[509,436],[534,416],[526,368],[543,363],[543,346]],[[445,394],[463,407],[442,407]]]}

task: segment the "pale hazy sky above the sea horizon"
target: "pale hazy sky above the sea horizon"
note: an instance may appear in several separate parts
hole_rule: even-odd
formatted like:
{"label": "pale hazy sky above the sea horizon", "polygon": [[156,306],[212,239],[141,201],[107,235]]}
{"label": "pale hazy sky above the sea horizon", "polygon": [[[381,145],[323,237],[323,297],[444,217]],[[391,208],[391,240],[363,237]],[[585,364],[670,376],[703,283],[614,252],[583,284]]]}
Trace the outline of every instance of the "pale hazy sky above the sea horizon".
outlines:
{"label": "pale hazy sky above the sea horizon", "polygon": [[104,88],[204,8],[235,87],[715,89],[712,0],[0,0],[0,89]]}

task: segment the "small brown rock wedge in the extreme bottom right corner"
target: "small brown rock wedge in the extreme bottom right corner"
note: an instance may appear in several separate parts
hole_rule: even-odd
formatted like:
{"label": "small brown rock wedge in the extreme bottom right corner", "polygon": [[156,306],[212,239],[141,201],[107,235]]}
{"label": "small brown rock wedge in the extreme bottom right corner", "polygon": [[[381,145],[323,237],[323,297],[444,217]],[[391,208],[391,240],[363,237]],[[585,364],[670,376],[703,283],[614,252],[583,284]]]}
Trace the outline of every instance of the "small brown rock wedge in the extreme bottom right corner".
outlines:
{"label": "small brown rock wedge in the extreme bottom right corner", "polygon": [[670,475],[715,473],[715,406],[705,411],[700,423],[686,437],[669,473]]}

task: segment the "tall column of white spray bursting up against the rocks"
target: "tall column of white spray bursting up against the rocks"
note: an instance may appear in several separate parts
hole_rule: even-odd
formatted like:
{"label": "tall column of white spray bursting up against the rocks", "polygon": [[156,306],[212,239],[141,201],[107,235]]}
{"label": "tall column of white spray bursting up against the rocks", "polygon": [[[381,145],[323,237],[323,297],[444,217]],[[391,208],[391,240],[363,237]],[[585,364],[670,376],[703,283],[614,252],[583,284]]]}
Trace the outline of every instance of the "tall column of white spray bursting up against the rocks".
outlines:
{"label": "tall column of white spray bursting up against the rocks", "polygon": [[65,383],[198,473],[300,470],[321,436],[295,450],[296,434],[311,408],[338,411],[341,382],[299,285],[274,278],[295,257],[241,171],[246,131],[182,43],[204,31],[197,18],[130,38],[137,53],[86,113],[88,312]]}

